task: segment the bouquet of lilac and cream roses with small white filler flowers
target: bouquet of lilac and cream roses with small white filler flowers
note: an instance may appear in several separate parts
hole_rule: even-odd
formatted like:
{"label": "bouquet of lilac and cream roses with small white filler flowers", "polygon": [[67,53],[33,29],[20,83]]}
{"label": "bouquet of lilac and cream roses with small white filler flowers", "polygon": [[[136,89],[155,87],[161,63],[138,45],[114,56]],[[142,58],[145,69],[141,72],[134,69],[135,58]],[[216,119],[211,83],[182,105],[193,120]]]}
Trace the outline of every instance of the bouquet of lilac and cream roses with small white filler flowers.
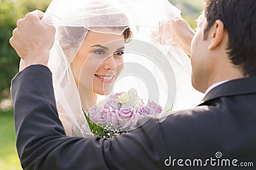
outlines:
{"label": "bouquet of lilac and cream roses with small white filler flowers", "polygon": [[93,134],[100,137],[114,137],[128,132],[139,118],[153,116],[163,111],[162,107],[148,100],[143,103],[135,89],[110,95],[108,100],[100,100],[84,116]]}

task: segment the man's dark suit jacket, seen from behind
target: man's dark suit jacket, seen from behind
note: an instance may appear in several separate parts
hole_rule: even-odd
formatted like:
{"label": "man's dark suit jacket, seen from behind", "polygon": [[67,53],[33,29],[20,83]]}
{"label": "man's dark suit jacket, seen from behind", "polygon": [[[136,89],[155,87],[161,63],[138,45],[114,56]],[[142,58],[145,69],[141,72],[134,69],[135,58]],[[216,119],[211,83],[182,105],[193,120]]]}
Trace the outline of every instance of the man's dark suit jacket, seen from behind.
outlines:
{"label": "man's dark suit jacket, seen from behind", "polygon": [[256,77],[221,84],[198,107],[113,139],[65,136],[45,66],[20,72],[11,91],[24,169],[256,169]]}

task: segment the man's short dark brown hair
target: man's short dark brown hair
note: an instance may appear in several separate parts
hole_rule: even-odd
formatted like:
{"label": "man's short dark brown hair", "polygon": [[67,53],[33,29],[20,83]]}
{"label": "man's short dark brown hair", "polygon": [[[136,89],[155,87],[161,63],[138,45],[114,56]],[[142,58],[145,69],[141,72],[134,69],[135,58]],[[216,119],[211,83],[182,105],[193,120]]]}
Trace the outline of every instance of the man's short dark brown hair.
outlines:
{"label": "man's short dark brown hair", "polygon": [[245,76],[256,75],[256,0],[205,0],[204,38],[216,20],[228,31],[227,54]]}

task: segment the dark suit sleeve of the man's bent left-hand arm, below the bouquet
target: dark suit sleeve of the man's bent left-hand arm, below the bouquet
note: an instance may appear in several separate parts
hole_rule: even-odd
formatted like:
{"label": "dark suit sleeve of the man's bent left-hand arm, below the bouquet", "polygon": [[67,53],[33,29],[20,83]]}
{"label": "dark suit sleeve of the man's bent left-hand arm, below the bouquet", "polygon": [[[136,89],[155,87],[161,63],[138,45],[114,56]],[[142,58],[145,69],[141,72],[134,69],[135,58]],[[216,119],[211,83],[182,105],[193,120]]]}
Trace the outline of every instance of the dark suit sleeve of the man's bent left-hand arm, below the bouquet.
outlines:
{"label": "dark suit sleeve of the man's bent left-hand arm, below the bouquet", "polygon": [[161,169],[157,120],[112,139],[67,137],[58,118],[52,75],[42,65],[18,73],[11,87],[17,151],[24,169]]}

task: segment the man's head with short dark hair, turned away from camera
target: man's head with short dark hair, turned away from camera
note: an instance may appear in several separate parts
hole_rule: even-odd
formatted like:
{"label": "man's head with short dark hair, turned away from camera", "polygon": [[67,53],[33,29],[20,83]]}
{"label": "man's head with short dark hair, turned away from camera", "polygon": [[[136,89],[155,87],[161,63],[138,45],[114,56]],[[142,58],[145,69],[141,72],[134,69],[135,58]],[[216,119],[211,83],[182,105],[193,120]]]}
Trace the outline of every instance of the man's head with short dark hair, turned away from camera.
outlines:
{"label": "man's head with short dark hair, turned away from camera", "polygon": [[191,44],[193,86],[256,75],[256,1],[205,0]]}

